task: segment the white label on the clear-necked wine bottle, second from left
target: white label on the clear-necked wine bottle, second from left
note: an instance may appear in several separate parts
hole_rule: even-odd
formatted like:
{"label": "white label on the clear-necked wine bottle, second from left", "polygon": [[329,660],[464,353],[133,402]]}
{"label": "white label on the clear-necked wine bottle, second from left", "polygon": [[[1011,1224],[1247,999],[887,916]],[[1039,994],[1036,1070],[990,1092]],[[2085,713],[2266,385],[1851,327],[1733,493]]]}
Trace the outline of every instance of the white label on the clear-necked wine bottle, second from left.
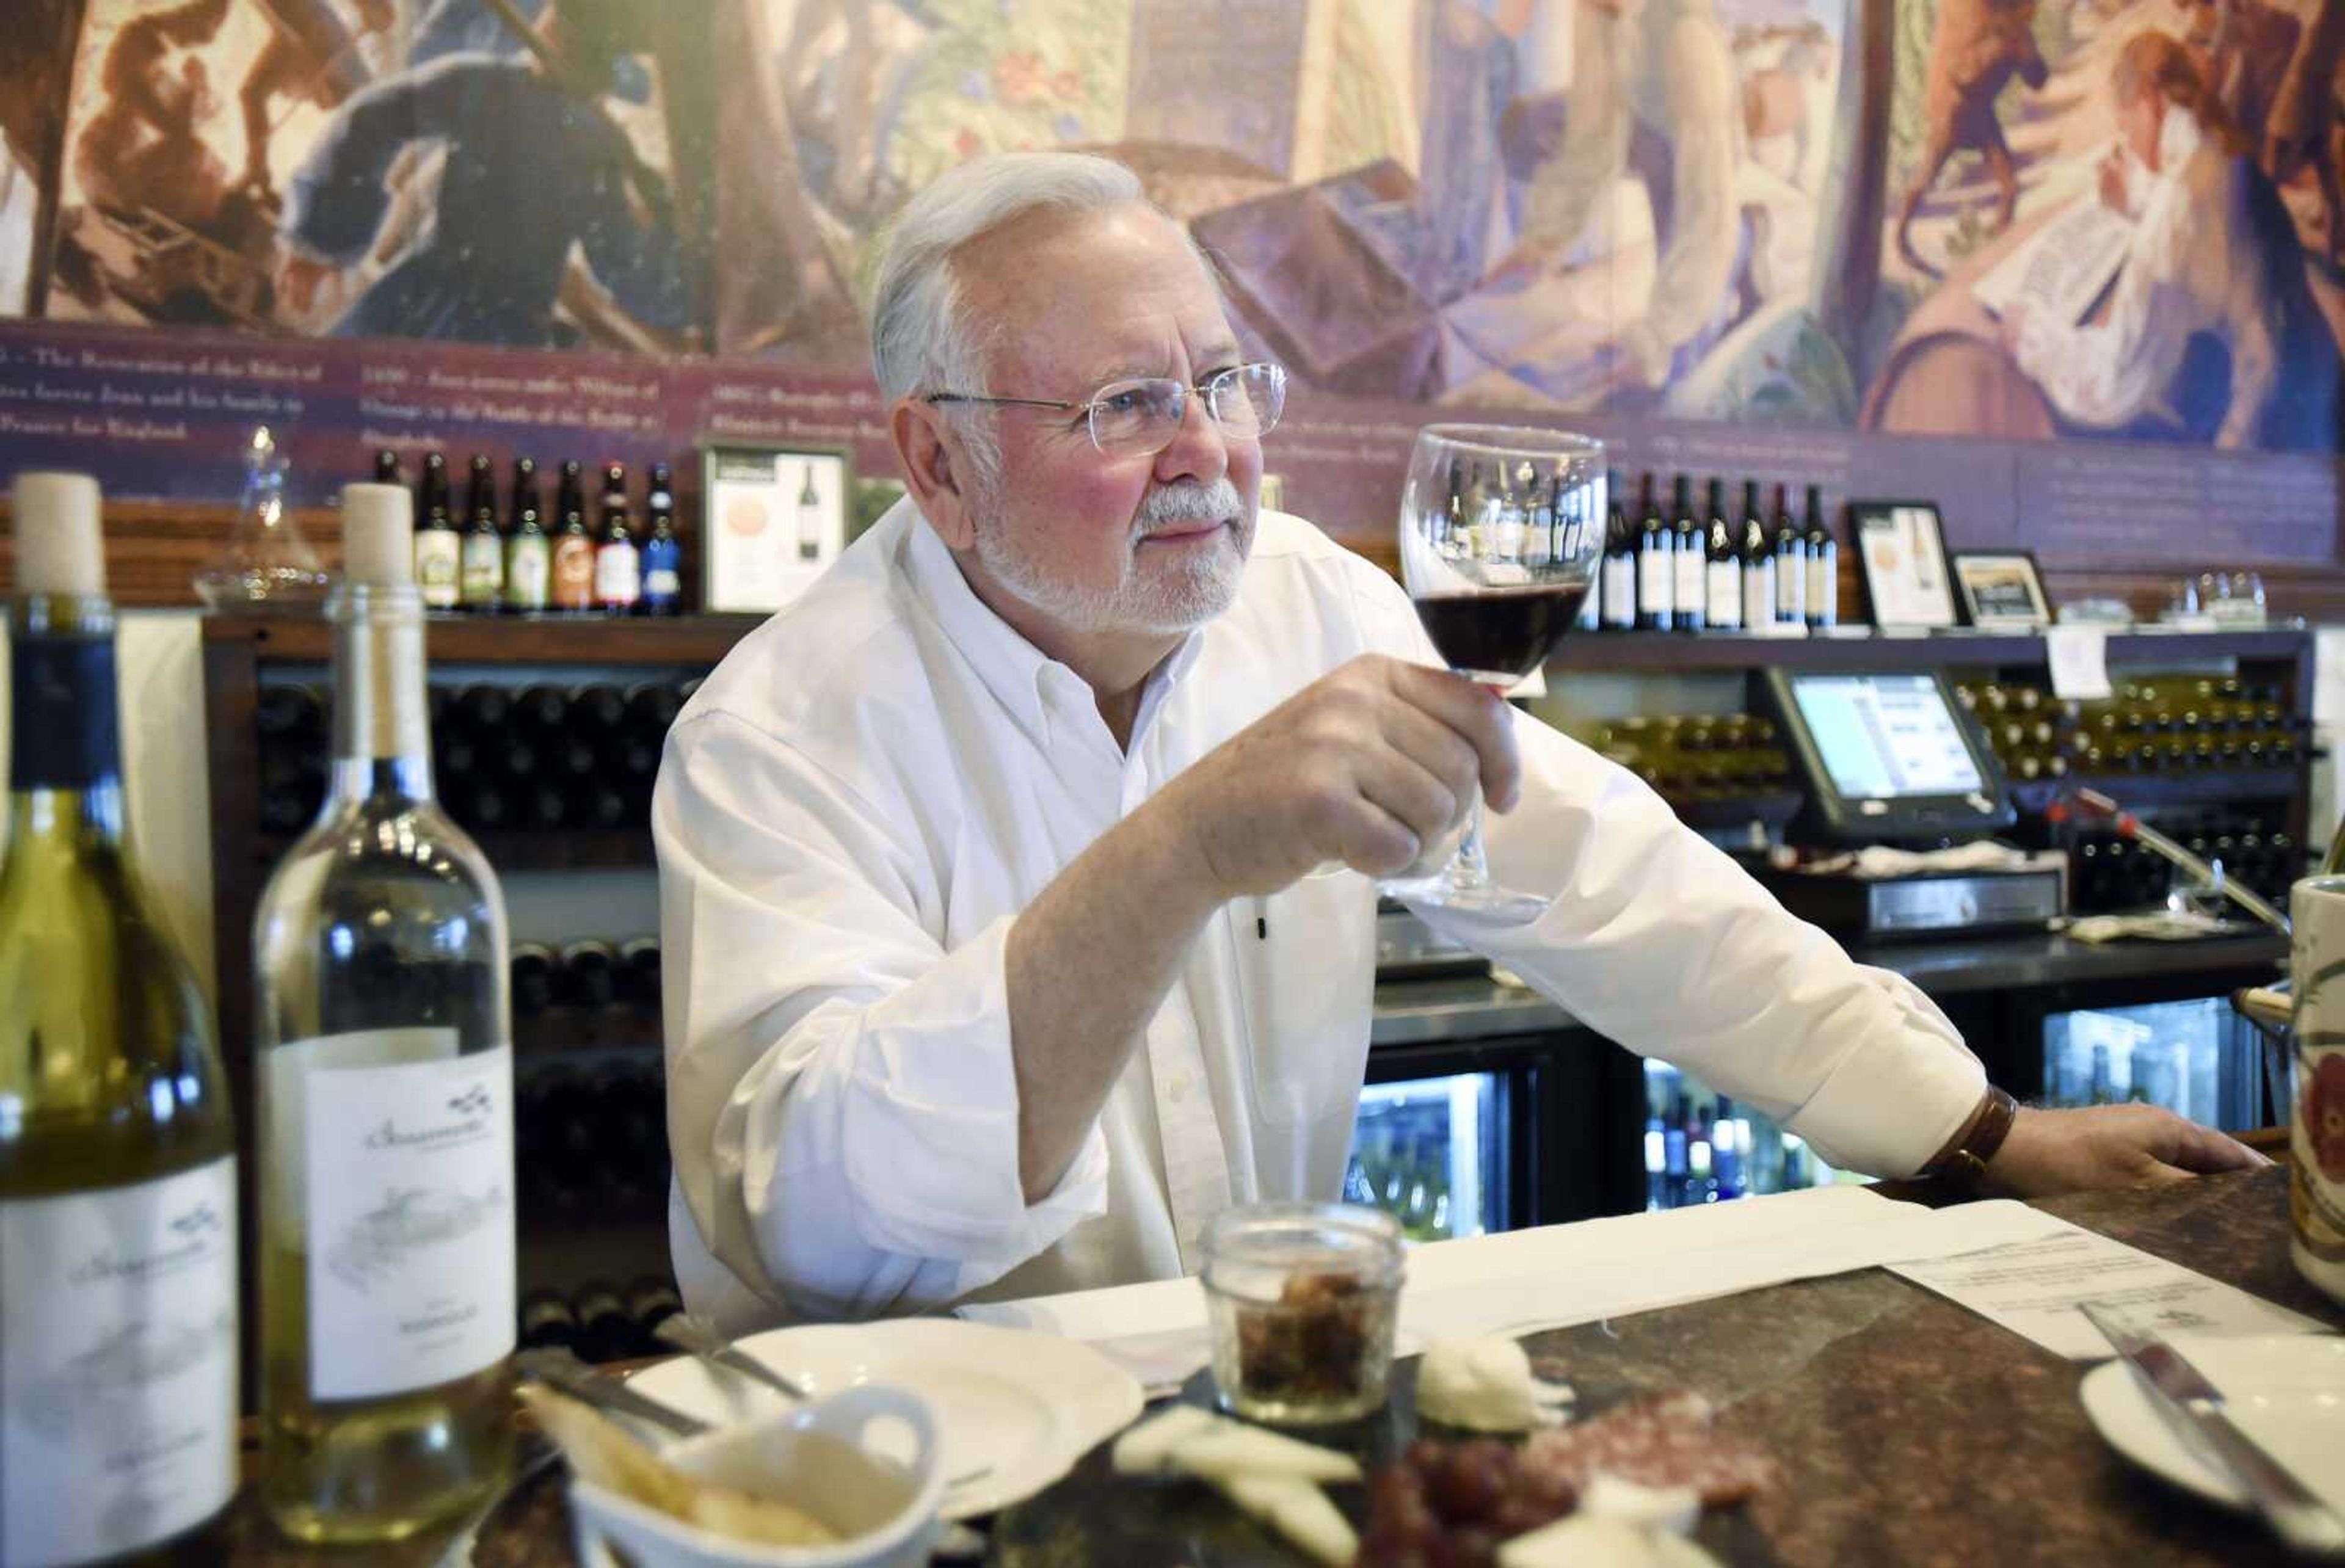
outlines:
{"label": "white label on the clear-necked wine bottle, second from left", "polygon": [[[270,1052],[272,1095],[277,1057],[312,1052],[298,1097],[312,1399],[431,1388],[514,1350],[511,1048],[380,1064],[415,1036],[455,1043],[401,1029]],[[333,1064],[359,1050],[375,1064]]]}

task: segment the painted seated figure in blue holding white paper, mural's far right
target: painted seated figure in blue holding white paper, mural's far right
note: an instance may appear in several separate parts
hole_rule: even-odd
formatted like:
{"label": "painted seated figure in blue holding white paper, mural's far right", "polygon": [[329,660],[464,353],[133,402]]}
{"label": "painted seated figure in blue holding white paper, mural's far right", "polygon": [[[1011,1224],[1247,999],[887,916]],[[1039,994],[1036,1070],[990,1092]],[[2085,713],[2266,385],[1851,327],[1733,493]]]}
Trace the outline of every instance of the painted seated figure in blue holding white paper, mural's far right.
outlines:
{"label": "painted seated figure in blue holding white paper, mural's far right", "polygon": [[2218,448],[2326,448],[2338,345],[2279,195],[2186,45],[2139,33],[2110,73],[2122,148],[2099,199],[2134,220],[2106,316],[2014,309],[2005,340],[2071,424]]}

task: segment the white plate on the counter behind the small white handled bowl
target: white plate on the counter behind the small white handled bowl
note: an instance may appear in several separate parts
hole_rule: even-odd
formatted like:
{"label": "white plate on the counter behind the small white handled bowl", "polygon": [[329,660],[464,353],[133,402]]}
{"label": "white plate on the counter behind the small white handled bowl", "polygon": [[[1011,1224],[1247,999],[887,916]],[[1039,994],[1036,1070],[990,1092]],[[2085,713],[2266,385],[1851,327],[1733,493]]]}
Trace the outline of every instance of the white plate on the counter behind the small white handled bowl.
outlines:
{"label": "white plate on the counter behind the small white handled bowl", "polygon": [[[926,1395],[945,1427],[945,1474],[985,1472],[945,1493],[945,1519],[1032,1498],[1128,1427],[1142,1404],[1140,1383],[1090,1345],[954,1317],[772,1329],[743,1338],[741,1350],[809,1397],[863,1383]],[[711,1373],[696,1357],[645,1366],[628,1383],[718,1425],[788,1404],[762,1383]]]}

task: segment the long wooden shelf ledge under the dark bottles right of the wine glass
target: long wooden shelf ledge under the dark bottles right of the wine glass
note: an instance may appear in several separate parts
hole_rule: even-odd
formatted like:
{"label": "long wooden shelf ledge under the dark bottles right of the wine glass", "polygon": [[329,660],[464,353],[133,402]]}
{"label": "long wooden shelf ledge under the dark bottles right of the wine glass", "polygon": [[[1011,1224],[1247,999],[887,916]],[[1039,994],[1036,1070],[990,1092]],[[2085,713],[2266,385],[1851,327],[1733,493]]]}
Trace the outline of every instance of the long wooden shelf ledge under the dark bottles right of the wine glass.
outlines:
{"label": "long wooden shelf ledge under the dark bottles right of the wine glass", "polygon": [[[2110,668],[2153,670],[2204,659],[2286,661],[2310,659],[2312,633],[2265,630],[2113,630]],[[1942,670],[2040,666],[2045,640],[2035,635],[1949,630],[1928,638],[1749,638],[1740,633],[1613,630],[1564,638],[1548,659],[1550,670],[1581,673],[1688,673],[1688,670]]]}

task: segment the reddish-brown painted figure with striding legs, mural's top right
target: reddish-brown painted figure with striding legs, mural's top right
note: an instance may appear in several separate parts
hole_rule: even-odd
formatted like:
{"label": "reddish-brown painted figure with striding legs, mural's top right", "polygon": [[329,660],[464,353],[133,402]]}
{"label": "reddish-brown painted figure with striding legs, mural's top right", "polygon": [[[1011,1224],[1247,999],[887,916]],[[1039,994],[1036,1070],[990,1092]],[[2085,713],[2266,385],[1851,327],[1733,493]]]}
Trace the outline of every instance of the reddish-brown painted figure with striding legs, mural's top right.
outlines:
{"label": "reddish-brown painted figure with striding legs, mural's top right", "polygon": [[1996,180],[1993,230],[2019,206],[2019,169],[1996,120],[1996,96],[2012,77],[2040,89],[2050,77],[2035,47],[2035,0],[1939,0],[1930,33],[1930,80],[1923,89],[1923,148],[1914,183],[1897,209],[1897,253],[1930,277],[1937,267],[1914,251],[1914,213],[1956,152],[1977,152]]}

